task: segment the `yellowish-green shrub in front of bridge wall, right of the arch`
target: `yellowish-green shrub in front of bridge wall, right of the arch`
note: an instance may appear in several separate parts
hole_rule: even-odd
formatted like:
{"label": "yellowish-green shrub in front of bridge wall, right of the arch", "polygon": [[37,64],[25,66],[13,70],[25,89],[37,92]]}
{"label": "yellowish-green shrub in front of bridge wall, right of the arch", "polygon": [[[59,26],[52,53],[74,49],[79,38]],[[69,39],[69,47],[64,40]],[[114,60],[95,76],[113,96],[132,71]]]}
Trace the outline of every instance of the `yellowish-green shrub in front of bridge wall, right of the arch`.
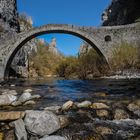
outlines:
{"label": "yellowish-green shrub in front of bridge wall, right of the arch", "polygon": [[139,63],[138,48],[132,44],[122,42],[113,50],[110,64],[113,70],[137,68]]}

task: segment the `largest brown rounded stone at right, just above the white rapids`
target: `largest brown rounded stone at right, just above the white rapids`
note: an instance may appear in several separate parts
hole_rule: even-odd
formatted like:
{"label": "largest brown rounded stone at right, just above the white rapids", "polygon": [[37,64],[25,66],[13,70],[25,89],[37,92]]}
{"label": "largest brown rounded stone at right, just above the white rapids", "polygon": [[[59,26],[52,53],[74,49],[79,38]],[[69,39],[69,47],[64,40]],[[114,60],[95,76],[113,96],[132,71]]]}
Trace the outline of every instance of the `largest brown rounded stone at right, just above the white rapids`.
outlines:
{"label": "largest brown rounded stone at right, just above the white rapids", "polygon": [[114,119],[115,120],[121,120],[121,119],[128,119],[129,115],[128,113],[123,109],[116,109],[114,112]]}

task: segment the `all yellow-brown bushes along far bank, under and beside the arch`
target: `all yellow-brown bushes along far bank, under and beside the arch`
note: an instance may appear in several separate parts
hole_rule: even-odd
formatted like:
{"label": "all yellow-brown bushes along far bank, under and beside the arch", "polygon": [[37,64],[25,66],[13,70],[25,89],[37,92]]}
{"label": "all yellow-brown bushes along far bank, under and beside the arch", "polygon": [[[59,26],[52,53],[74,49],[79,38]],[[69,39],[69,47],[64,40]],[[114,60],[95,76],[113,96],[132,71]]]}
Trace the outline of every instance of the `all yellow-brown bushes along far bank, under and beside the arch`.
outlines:
{"label": "all yellow-brown bushes along far bank, under and beside the arch", "polygon": [[109,71],[103,58],[94,49],[78,56],[66,57],[49,52],[43,44],[39,46],[37,54],[32,55],[30,59],[30,76],[58,75],[66,79],[93,79],[112,72],[140,69],[138,47],[126,42],[122,42],[113,50],[113,56],[109,60],[112,71]]}

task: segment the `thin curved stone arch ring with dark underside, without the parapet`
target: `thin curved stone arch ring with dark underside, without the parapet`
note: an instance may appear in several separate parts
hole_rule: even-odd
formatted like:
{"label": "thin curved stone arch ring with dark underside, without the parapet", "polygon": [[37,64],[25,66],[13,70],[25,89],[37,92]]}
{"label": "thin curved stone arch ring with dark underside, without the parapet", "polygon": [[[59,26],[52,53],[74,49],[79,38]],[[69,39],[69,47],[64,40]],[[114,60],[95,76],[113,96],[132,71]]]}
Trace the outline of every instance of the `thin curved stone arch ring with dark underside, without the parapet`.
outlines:
{"label": "thin curved stone arch ring with dark underside, without the parapet", "polygon": [[73,30],[73,27],[71,27],[70,29],[62,29],[62,28],[58,28],[58,29],[45,29],[43,27],[43,30],[39,30],[39,28],[37,28],[36,30],[33,30],[29,32],[29,35],[27,34],[22,34],[21,39],[17,40],[17,42],[13,45],[14,47],[12,48],[11,52],[8,54],[7,56],[7,60],[6,60],[6,65],[5,65],[5,73],[4,73],[4,79],[8,79],[9,77],[9,70],[10,70],[10,66],[12,63],[12,60],[14,59],[16,53],[22,48],[22,46],[24,44],[26,44],[28,41],[30,41],[31,39],[38,37],[40,35],[44,35],[44,34],[51,34],[51,33],[59,33],[59,34],[70,34],[70,35],[74,35],[76,37],[79,37],[81,39],[83,39],[85,42],[87,42],[88,44],[90,44],[96,51],[97,53],[100,55],[100,57],[102,58],[102,60],[108,64],[106,57],[103,55],[102,51],[100,50],[100,47],[98,46],[98,44],[89,36],[87,36],[85,33],[83,32],[79,32],[79,30],[75,31]]}

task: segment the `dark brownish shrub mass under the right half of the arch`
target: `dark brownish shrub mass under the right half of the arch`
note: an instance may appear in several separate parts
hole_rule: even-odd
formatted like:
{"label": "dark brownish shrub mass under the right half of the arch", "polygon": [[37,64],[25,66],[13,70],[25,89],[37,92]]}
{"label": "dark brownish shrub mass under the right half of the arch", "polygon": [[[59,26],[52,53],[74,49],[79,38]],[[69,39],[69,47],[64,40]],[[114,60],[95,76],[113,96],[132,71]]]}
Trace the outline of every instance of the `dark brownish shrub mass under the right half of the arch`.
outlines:
{"label": "dark brownish shrub mass under the right half of the arch", "polygon": [[102,58],[94,49],[88,53],[81,54],[78,57],[65,57],[56,69],[60,77],[87,79],[88,75],[100,76],[99,65],[102,65]]}

